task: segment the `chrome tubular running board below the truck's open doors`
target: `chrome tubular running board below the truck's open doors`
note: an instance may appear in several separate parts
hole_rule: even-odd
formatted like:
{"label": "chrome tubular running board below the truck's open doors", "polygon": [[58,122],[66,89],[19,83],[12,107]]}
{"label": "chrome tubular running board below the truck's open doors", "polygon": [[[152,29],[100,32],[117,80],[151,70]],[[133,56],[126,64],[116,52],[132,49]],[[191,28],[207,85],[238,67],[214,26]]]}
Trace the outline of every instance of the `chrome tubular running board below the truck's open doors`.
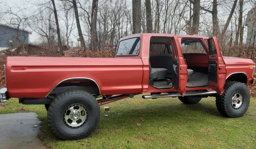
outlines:
{"label": "chrome tubular running board below the truck's open doors", "polygon": [[[187,92],[184,96],[196,96],[196,95],[211,95],[217,94],[216,91],[206,91],[206,92]],[[143,99],[149,98],[165,98],[165,97],[181,97],[180,93],[172,93],[172,94],[153,94],[153,95],[143,95]]]}

